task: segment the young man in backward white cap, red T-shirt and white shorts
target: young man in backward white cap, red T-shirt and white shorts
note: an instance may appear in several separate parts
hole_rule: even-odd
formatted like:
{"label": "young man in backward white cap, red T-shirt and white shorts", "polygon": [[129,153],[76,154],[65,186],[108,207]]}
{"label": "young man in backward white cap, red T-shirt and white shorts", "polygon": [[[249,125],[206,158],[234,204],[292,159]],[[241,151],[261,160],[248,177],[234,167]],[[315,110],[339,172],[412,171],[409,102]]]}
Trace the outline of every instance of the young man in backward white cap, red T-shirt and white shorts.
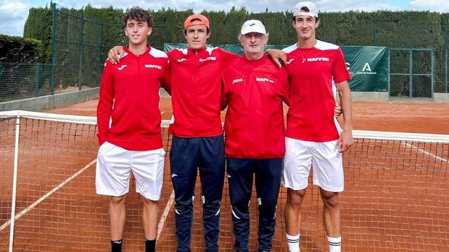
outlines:
{"label": "young man in backward white cap, red T-shirt and white shorts", "polygon": [[[341,250],[338,193],[344,189],[341,152],[353,144],[351,75],[341,49],[316,39],[319,23],[315,4],[298,3],[292,20],[298,42],[284,49],[291,95],[282,183],[288,188],[285,221],[290,252],[300,251],[300,209],[311,166],[323,201],[330,252]],[[342,132],[334,117],[335,87],[344,115]]]}

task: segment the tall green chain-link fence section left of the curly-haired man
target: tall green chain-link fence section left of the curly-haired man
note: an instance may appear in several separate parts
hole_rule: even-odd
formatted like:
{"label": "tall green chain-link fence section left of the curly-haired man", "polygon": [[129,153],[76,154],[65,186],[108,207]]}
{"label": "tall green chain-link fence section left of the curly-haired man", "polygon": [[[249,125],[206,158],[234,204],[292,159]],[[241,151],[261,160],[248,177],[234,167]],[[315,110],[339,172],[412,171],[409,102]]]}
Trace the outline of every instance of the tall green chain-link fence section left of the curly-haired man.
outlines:
{"label": "tall green chain-link fence section left of the curly-haired man", "polygon": [[101,22],[84,18],[78,10],[53,5],[52,61],[56,90],[98,87],[102,33]]}

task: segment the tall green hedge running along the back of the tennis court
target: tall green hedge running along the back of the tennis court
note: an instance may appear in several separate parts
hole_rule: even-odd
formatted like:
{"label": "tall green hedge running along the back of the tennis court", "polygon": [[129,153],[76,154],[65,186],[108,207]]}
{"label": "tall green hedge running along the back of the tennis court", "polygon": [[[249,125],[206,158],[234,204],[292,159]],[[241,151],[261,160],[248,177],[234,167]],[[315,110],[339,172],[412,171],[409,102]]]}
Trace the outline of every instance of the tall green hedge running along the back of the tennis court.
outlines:
{"label": "tall green hedge running along the back of the tennis court", "polygon": [[[142,6],[145,7],[145,6]],[[76,64],[83,57],[83,73],[92,73],[92,80],[101,74],[101,63],[93,68],[89,63],[103,62],[106,53],[113,45],[126,44],[121,16],[122,9],[94,8],[90,5],[83,9],[58,7],[56,38],[59,39],[56,50],[58,59],[67,59],[66,64]],[[151,11],[154,15],[153,34],[148,42],[159,49],[164,43],[184,43],[183,22],[193,13],[192,10],[177,11],[161,9]],[[70,13],[67,16],[64,13]],[[250,13],[245,8],[232,8],[229,11],[203,11],[211,21],[212,35],[210,44],[235,44],[241,24],[247,19],[259,19],[270,33],[269,44],[289,45],[297,41],[297,35],[291,24],[291,12]],[[445,92],[445,54],[449,49],[449,34],[445,35],[449,24],[448,13],[429,11],[376,11],[376,12],[324,12],[320,13],[321,24],[317,38],[338,45],[376,45],[388,47],[425,47],[435,48],[435,77],[437,92]],[[81,21],[83,26],[81,26]],[[24,27],[24,36],[42,41],[44,62],[49,63],[51,48],[51,8],[32,8]],[[83,33],[81,34],[81,27]],[[80,40],[82,36],[82,40]],[[444,41],[444,38],[447,41]],[[101,41],[100,41],[101,40]],[[67,41],[67,42],[60,42]],[[83,52],[76,53],[83,42]],[[59,51],[58,51],[59,50]],[[67,52],[60,52],[65,50]],[[72,62],[70,62],[72,61]],[[86,62],[86,64],[84,64]],[[404,66],[408,60],[404,59]],[[59,64],[60,62],[57,62]],[[96,63],[95,63],[96,64]],[[76,65],[73,65],[73,69]],[[79,74],[72,71],[61,76],[70,77],[77,83]],[[81,75],[80,75],[81,76]],[[89,77],[90,78],[90,77]],[[70,82],[69,81],[69,82]],[[66,81],[64,81],[65,83]],[[64,84],[65,85],[65,84]]]}

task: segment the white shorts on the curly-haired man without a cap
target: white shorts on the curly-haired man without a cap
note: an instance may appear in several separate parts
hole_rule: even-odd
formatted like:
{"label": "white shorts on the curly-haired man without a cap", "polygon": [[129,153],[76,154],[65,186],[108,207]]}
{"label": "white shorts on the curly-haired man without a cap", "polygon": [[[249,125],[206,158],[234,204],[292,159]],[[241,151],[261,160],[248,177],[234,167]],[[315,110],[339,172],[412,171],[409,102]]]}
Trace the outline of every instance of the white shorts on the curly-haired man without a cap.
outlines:
{"label": "white shorts on the curly-haired man without a cap", "polygon": [[129,192],[131,172],[136,179],[136,192],[145,199],[161,198],[165,151],[130,151],[105,142],[98,149],[96,193],[121,196]]}

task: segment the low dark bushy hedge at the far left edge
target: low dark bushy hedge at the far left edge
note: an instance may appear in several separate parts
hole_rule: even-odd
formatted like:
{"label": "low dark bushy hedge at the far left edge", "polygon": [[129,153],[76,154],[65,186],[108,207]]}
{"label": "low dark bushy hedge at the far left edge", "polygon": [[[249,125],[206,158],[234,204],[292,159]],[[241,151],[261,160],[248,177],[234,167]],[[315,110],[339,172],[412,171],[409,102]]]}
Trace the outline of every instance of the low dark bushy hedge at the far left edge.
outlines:
{"label": "low dark bushy hedge at the far left edge", "polygon": [[39,62],[41,52],[42,43],[39,40],[0,34],[0,61]]}

